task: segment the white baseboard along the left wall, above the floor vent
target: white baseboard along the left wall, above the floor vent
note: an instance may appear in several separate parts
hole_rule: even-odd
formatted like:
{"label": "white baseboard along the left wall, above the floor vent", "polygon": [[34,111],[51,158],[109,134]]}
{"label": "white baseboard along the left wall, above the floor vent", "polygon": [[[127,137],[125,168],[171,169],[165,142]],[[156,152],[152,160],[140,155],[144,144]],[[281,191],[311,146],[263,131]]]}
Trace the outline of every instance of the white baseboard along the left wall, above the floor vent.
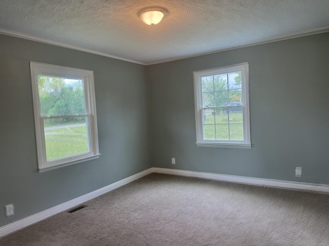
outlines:
{"label": "white baseboard along the left wall, above the floor vent", "polygon": [[107,192],[110,192],[124,184],[130,183],[134,180],[137,180],[145,175],[151,174],[152,173],[152,168],[149,168],[143,172],[140,172],[138,174],[135,174],[133,176],[127,177],[125,179],[119,180],[118,182],[115,182],[113,184],[107,185],[105,187],[102,187],[94,192],[90,192],[86,195],[77,197],[75,199],[69,200],[67,202],[64,202],[62,204],[59,204],[57,206],[50,207],[50,209],[44,210],[40,213],[28,216],[24,219],[17,220],[13,223],[10,223],[8,225],[2,226],[0,228],[0,237],[5,236],[9,233],[12,233],[14,231],[20,230],[30,224],[33,224],[35,222],[41,221],[43,219],[46,219],[54,214],[58,214],[60,212],[63,212],[67,209],[70,209],[71,207],[74,207],[76,205],[79,205],[83,202],[86,202],[90,199],[93,199],[95,197],[98,197],[100,195],[103,195]]}

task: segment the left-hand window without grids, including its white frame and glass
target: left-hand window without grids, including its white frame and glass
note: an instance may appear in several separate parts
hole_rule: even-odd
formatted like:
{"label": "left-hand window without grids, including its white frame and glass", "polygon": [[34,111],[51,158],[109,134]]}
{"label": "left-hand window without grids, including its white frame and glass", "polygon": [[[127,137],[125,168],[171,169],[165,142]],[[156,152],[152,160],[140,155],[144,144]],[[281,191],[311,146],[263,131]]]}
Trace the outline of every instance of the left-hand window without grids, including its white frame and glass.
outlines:
{"label": "left-hand window without grids, including its white frame and glass", "polygon": [[94,72],[30,65],[39,172],[98,158]]}

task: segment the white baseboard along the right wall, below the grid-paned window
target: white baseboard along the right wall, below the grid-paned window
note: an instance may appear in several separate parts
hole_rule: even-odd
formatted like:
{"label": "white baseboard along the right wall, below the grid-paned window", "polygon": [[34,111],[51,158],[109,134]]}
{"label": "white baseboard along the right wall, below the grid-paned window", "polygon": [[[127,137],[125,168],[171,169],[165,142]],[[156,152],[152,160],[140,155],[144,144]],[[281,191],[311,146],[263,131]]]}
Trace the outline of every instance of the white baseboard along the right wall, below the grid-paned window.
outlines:
{"label": "white baseboard along the right wall, below the grid-paned window", "polygon": [[151,171],[152,173],[160,173],[160,174],[171,174],[171,175],[212,179],[212,180],[241,183],[241,184],[287,188],[290,190],[329,193],[329,185],[327,184],[304,183],[304,182],[276,180],[276,179],[251,178],[251,177],[243,177],[243,176],[203,173],[203,172],[185,171],[179,169],[169,169],[169,168],[159,168],[159,167],[152,167]]}

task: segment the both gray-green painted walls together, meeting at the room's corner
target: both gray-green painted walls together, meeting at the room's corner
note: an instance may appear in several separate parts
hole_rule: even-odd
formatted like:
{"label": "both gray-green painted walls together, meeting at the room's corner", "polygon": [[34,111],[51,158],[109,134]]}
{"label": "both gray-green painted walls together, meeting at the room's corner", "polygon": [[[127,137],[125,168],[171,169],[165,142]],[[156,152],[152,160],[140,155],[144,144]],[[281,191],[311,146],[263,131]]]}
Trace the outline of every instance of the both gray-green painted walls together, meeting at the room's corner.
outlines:
{"label": "both gray-green painted walls together, meeting at the room's corner", "polygon": [[[151,166],[329,184],[328,43],[323,33],[145,67],[0,35],[0,206],[15,206],[0,226]],[[99,159],[38,173],[30,61],[94,70]],[[243,62],[252,148],[197,147],[192,72]]]}

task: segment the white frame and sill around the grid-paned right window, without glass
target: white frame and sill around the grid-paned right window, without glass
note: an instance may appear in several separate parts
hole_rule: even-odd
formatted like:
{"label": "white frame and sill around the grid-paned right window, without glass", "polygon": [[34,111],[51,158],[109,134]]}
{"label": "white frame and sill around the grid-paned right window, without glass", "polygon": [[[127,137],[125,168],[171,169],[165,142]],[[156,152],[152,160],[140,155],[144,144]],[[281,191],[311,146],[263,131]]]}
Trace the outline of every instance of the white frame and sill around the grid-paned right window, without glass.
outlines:
{"label": "white frame and sill around the grid-paned right window, without glass", "polygon": [[[241,71],[241,86],[243,95],[243,133],[244,140],[206,140],[203,133],[202,119],[202,77]],[[249,113],[249,65],[241,63],[231,66],[206,69],[193,72],[194,78],[194,103],[195,103],[195,125],[196,125],[196,145],[202,147],[231,147],[231,148],[251,148],[250,140],[250,113]],[[221,108],[221,107],[217,107]],[[226,107],[225,107],[226,108]]]}

